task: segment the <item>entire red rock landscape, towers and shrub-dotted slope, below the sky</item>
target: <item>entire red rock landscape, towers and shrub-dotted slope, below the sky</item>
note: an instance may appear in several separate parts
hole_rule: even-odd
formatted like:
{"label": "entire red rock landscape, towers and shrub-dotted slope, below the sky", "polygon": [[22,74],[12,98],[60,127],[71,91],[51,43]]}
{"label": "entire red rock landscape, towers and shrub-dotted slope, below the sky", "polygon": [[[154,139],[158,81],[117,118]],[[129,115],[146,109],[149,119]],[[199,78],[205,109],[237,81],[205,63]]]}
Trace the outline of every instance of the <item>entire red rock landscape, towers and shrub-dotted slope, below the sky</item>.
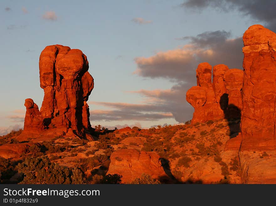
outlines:
{"label": "entire red rock landscape, towers and shrub-dotted slope, below the sky", "polygon": [[[2,182],[22,181],[20,171],[29,163],[52,162],[67,183],[83,176],[85,183],[145,177],[161,183],[276,183],[276,34],[253,25],[243,41],[244,71],[199,64],[197,86],[186,94],[194,107],[191,124],[119,130],[90,126],[86,101],[93,78],[86,56],[46,47],[40,55],[41,109],[26,99],[23,132],[0,138]],[[43,175],[25,177],[27,183],[46,181]]]}

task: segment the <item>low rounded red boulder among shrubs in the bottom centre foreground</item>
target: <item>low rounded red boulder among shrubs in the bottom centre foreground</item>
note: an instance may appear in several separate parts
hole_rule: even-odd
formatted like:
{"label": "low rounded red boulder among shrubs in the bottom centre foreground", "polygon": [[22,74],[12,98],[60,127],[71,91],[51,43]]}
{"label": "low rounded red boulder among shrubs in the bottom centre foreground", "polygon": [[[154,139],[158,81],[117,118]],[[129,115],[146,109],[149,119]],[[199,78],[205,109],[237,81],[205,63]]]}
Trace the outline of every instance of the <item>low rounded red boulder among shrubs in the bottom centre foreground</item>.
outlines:
{"label": "low rounded red boulder among shrubs in the bottom centre foreground", "polygon": [[135,149],[121,149],[114,151],[110,156],[110,165],[107,174],[119,174],[122,183],[132,182],[143,173],[154,179],[169,179],[155,152],[137,151]]}

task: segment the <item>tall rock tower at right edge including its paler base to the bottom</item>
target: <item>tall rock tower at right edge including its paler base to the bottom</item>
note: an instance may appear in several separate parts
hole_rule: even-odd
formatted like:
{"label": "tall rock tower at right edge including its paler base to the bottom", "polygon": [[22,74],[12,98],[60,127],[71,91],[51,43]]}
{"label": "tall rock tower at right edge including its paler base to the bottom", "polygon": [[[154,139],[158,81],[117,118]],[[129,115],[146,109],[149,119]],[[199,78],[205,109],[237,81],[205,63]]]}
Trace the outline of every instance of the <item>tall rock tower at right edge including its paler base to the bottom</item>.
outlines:
{"label": "tall rock tower at right edge including its paler base to the bottom", "polygon": [[243,35],[242,183],[276,182],[276,34],[253,25]]}

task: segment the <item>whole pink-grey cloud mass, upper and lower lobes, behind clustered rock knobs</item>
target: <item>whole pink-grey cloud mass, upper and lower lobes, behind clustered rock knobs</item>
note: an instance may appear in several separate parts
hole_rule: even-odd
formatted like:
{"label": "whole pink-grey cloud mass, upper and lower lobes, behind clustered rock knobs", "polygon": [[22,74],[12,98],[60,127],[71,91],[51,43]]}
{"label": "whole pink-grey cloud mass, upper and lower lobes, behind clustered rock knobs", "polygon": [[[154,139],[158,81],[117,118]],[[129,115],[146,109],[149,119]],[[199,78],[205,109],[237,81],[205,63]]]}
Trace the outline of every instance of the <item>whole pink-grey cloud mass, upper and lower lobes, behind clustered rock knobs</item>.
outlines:
{"label": "whole pink-grey cloud mass, upper and lower lobes, behind clustered rock knobs", "polygon": [[196,68],[201,62],[212,66],[226,64],[229,68],[242,68],[242,38],[230,39],[231,32],[207,31],[196,36],[184,36],[187,45],[174,50],[160,51],[150,57],[137,57],[134,74],[141,77],[163,78],[176,84],[168,90],[130,91],[146,97],[152,105],[160,105],[158,112],[170,112],[178,122],[192,118],[193,108],[186,101],[186,92],[196,85]]}

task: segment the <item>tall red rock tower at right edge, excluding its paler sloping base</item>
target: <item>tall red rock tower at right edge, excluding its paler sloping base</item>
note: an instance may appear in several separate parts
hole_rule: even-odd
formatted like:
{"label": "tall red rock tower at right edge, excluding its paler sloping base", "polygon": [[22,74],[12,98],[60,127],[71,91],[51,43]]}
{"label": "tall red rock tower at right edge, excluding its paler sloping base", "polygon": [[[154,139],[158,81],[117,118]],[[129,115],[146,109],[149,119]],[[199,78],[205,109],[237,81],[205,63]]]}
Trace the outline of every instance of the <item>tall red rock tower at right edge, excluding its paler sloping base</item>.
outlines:
{"label": "tall red rock tower at right edge, excluding its paler sloping base", "polygon": [[262,25],[243,35],[242,150],[275,149],[276,34]]}

